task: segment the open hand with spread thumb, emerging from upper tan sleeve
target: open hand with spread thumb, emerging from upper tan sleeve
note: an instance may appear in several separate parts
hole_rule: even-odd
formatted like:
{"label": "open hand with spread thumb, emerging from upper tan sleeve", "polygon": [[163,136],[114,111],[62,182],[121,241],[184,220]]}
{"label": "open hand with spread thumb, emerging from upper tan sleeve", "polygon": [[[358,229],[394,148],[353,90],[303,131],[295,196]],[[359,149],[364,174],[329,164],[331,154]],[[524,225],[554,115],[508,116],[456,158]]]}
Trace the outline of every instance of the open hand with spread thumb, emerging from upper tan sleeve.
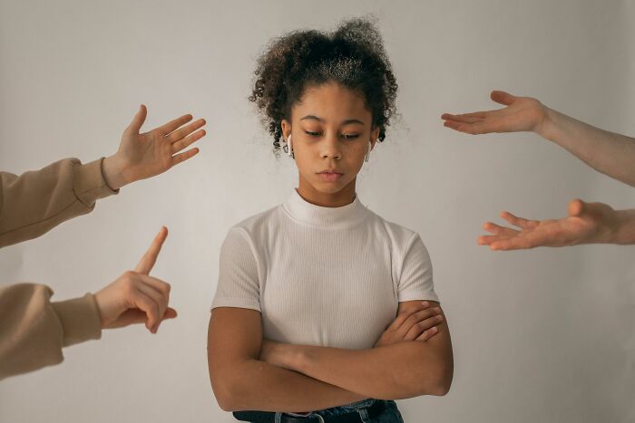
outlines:
{"label": "open hand with spread thumb, emerging from upper tan sleeve", "polygon": [[199,152],[194,148],[180,153],[205,136],[205,130],[200,130],[205,120],[195,120],[183,127],[192,120],[192,116],[187,114],[159,128],[140,133],[147,115],[148,111],[142,105],[123,131],[119,150],[103,160],[103,176],[112,189],[159,175]]}

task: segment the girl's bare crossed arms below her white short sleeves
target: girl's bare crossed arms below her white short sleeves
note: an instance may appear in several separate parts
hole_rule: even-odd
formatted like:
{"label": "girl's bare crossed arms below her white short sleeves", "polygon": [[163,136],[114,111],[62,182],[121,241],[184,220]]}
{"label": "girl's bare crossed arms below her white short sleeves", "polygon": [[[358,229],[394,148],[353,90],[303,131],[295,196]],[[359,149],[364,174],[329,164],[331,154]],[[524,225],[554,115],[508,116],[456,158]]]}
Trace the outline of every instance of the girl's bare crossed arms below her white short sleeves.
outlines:
{"label": "girl's bare crossed arms below her white short sleeves", "polygon": [[[418,303],[399,303],[397,319],[414,315]],[[445,395],[454,370],[445,316],[435,327],[425,340],[399,335],[404,341],[355,351],[263,340],[259,312],[219,307],[208,334],[211,386],[226,411],[301,412],[367,398]]]}

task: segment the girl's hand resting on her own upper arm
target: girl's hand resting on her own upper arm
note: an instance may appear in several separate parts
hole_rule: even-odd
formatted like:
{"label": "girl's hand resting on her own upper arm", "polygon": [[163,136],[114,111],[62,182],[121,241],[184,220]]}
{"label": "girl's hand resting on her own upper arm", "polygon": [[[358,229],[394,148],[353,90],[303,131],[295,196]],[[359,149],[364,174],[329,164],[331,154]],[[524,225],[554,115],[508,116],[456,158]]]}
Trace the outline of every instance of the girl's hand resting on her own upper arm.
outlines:
{"label": "girl's hand resting on her own upper arm", "polygon": [[415,308],[400,312],[395,321],[382,333],[375,347],[382,347],[401,341],[427,341],[438,332],[436,325],[443,322],[441,308],[431,307],[424,301]]}

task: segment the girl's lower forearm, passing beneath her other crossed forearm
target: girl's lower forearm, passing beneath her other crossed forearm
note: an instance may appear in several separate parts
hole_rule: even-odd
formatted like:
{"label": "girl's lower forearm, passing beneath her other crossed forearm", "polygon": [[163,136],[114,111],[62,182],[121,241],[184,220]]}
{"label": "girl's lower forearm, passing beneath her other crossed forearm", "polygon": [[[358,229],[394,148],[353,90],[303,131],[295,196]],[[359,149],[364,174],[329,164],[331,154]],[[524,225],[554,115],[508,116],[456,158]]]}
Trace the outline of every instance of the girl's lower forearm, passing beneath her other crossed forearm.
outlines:
{"label": "girl's lower forearm, passing beneath her other crossed forearm", "polygon": [[263,361],[241,361],[224,371],[230,383],[213,383],[213,374],[211,380],[219,405],[226,411],[302,412],[368,398]]}

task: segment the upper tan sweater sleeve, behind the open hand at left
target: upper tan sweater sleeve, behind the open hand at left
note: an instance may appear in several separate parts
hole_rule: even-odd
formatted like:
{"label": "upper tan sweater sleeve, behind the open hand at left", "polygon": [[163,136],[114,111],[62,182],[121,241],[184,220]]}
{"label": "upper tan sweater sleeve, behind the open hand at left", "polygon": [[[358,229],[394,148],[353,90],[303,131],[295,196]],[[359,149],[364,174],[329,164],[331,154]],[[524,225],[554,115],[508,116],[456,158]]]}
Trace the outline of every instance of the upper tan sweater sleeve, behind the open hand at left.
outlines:
{"label": "upper tan sweater sleeve, behind the open hand at left", "polygon": [[103,178],[102,161],[63,159],[19,177],[0,172],[0,247],[41,236],[117,194]]}

